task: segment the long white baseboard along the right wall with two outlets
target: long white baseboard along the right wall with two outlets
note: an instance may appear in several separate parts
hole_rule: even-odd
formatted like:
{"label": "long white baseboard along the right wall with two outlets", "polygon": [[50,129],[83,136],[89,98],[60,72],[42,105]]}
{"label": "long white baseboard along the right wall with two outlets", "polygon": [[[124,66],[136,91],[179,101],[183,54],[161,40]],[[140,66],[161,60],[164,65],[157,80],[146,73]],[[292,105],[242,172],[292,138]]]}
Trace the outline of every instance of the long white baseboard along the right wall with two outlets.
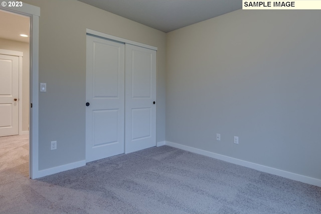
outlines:
{"label": "long white baseboard along the right wall with two outlets", "polygon": [[320,186],[321,187],[321,180],[313,178],[313,177],[307,177],[305,175],[295,174],[295,173],[292,173],[292,172],[288,172],[288,171],[272,168],[272,167],[269,167],[269,166],[260,165],[260,164],[257,164],[257,163],[248,162],[248,161],[245,161],[245,160],[236,159],[236,158],[233,158],[233,157],[217,154],[217,153],[210,152],[210,151],[205,151],[205,150],[202,150],[202,149],[198,149],[198,148],[194,148],[194,147],[190,147],[190,146],[186,146],[186,145],[182,145],[182,144],[178,144],[178,143],[173,143],[173,142],[170,142],[170,141],[166,141],[165,145],[172,146],[172,147],[179,148],[179,149],[183,149],[183,150],[190,151],[190,152],[197,153],[197,154],[202,154],[202,155],[205,155],[205,156],[208,156],[208,157],[213,157],[213,158],[216,158],[216,159],[219,159],[219,160],[224,160],[226,162],[230,162],[230,163],[234,163],[234,164],[237,164],[237,165],[245,166],[245,167],[248,167],[248,168],[256,169],[256,170],[259,170],[259,171],[262,171],[262,172],[267,172],[267,173],[270,173],[270,174],[278,175],[278,176],[281,176],[281,177],[285,177],[285,178],[289,178],[289,179],[292,179],[292,180],[296,180],[296,181],[300,181],[300,182],[303,182],[303,183],[308,183],[308,184],[311,184],[311,185],[315,185],[315,186]]}

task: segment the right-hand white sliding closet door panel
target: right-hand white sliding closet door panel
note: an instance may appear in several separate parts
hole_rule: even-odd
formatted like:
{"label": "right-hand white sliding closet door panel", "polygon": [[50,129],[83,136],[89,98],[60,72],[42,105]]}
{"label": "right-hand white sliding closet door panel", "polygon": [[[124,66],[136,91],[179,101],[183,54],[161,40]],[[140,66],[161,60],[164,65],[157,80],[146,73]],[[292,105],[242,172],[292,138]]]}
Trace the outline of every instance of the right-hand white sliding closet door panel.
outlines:
{"label": "right-hand white sliding closet door panel", "polygon": [[156,145],[156,51],[125,46],[125,153],[129,153]]}

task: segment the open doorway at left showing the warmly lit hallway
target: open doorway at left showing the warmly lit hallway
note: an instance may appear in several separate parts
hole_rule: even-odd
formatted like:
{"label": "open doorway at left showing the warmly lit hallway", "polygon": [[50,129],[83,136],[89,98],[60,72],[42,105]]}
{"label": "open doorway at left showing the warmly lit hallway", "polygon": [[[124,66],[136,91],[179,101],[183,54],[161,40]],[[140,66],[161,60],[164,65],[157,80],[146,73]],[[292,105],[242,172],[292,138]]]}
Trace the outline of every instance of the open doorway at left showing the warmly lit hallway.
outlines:
{"label": "open doorway at left showing the warmly lit hallway", "polygon": [[0,161],[28,177],[30,17],[0,10],[0,26]]}

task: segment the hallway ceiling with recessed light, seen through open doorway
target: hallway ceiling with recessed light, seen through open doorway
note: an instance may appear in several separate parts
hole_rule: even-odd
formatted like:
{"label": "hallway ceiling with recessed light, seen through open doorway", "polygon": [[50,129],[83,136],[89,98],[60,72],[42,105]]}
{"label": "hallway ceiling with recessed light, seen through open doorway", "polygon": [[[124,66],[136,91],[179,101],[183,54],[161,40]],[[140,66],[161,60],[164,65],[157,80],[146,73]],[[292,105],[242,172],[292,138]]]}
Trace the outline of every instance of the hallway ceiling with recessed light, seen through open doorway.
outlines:
{"label": "hallway ceiling with recessed light, seen through open doorway", "polygon": [[29,37],[21,37],[20,34],[30,36],[30,18],[4,12],[0,10],[0,38],[29,43]]}

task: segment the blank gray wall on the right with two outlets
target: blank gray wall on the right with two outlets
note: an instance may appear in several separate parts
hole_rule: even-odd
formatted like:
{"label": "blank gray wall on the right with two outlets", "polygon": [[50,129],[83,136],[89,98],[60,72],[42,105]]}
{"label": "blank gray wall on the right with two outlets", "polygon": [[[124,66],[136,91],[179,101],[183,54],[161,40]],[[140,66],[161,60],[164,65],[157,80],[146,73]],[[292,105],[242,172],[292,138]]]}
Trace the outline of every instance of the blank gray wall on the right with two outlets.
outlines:
{"label": "blank gray wall on the right with two outlets", "polygon": [[321,179],[320,20],[239,10],[168,33],[166,140]]}

